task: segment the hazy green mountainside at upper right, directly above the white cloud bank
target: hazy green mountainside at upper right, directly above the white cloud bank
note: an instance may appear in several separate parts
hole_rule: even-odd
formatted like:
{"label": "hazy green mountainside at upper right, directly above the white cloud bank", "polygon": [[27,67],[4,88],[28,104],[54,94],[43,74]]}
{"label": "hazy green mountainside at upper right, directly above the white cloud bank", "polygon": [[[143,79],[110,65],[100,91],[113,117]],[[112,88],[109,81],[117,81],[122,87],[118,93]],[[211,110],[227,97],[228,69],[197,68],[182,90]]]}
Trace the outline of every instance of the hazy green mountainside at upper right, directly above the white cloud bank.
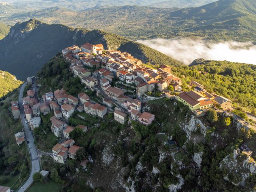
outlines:
{"label": "hazy green mountainside at upper right, directly above the white cloud bank", "polygon": [[181,33],[222,40],[256,40],[256,2],[219,0],[192,9],[169,14],[181,26]]}

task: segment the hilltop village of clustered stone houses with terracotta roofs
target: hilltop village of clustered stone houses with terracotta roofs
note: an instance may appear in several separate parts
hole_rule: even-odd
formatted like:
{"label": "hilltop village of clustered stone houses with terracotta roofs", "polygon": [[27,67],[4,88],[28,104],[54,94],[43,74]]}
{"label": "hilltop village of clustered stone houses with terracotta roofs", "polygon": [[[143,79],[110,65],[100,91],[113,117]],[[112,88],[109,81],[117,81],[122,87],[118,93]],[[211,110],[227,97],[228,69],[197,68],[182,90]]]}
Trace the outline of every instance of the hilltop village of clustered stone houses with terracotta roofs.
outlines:
{"label": "hilltop village of clustered stone houses with terracotta roofs", "polygon": [[[86,43],[81,47],[64,48],[62,56],[73,76],[80,79],[84,88],[94,91],[100,100],[95,102],[84,92],[69,95],[64,88],[46,92],[42,98],[38,98],[36,90],[29,89],[27,96],[22,98],[26,123],[31,130],[40,126],[41,115],[54,113],[50,118],[51,130],[61,142],[53,146],[52,158],[59,163],[65,163],[67,158],[75,159],[80,148],[74,145],[70,136],[75,127],[69,125],[69,118],[74,112],[84,112],[103,120],[112,113],[120,124],[129,120],[149,125],[155,120],[155,115],[147,112],[147,101],[164,97],[182,102],[195,116],[206,115],[210,108],[231,109],[230,100],[207,92],[198,82],[191,81],[191,90],[182,92],[182,80],[172,74],[170,66],[162,64],[158,69],[149,68],[127,52],[104,50],[102,44]],[[32,83],[28,78],[28,84]],[[12,114],[14,118],[20,116],[17,102],[12,102]],[[88,130],[84,125],[77,128],[83,132]],[[24,134],[17,133],[17,144],[23,141]]]}

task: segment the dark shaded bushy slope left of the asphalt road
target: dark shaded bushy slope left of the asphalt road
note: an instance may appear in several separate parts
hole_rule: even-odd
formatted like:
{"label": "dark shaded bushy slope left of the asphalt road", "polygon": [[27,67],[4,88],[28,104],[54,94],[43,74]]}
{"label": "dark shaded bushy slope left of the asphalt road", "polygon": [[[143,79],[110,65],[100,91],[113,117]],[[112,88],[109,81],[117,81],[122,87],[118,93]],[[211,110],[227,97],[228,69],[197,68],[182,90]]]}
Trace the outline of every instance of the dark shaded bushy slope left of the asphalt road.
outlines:
{"label": "dark shaded bushy slope left of the asphalt road", "polygon": [[14,134],[22,132],[22,124],[12,118],[10,102],[17,100],[18,90],[5,96],[0,106],[0,184],[17,189],[24,182],[30,170],[30,158],[26,143],[17,145]]}

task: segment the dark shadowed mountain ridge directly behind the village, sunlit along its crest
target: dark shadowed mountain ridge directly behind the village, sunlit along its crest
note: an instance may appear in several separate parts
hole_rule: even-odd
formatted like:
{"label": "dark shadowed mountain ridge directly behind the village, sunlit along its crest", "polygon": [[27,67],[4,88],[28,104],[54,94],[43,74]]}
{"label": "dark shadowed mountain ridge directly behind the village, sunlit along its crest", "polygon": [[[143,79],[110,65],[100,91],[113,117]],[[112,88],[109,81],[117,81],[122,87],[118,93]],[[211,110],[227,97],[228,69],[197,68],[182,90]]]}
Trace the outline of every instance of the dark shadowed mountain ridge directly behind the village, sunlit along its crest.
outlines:
{"label": "dark shadowed mountain ridge directly behind the village, sunlit along its crest", "polygon": [[152,64],[167,63],[173,66],[180,62],[148,46],[132,42],[116,34],[102,30],[70,28],[59,24],[46,24],[35,19],[17,23],[0,41],[0,69],[18,79],[35,75],[57,52],[71,45],[85,42],[104,45],[105,49],[129,52],[134,57]]}

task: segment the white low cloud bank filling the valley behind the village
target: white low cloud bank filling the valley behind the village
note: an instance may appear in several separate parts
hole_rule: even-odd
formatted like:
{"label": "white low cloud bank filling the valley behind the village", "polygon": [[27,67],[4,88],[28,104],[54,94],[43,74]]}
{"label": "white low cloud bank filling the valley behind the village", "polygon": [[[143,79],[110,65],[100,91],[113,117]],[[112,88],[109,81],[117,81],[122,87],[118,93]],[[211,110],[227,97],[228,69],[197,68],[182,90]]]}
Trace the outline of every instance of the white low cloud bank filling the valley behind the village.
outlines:
{"label": "white low cloud bank filling the valley behind the village", "polygon": [[210,43],[190,38],[138,40],[138,42],[187,65],[197,58],[256,64],[256,45],[252,42]]}

